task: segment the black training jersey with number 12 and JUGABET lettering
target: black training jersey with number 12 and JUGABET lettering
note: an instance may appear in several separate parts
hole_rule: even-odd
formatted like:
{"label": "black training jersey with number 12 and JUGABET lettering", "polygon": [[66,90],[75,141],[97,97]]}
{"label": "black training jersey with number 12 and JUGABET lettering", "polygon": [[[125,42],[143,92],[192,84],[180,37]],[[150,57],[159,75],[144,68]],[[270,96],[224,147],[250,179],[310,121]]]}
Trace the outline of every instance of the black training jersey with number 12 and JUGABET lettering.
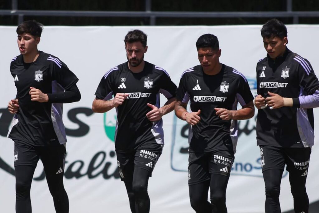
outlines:
{"label": "black training jersey with number 12 and JUGABET lettering", "polygon": [[298,97],[319,90],[318,79],[307,59],[286,48],[275,60],[268,55],[256,67],[257,93],[264,98],[268,91],[293,98],[294,107],[258,110],[257,145],[277,147],[309,147],[314,144],[312,109],[299,108]]}

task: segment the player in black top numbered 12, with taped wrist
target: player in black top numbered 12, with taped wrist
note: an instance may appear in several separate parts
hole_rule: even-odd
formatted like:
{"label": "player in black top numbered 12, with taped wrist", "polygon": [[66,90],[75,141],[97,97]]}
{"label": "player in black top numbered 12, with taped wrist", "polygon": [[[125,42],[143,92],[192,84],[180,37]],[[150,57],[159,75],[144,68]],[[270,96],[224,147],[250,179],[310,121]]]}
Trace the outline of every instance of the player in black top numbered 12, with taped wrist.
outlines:
{"label": "player in black top numbered 12, with taped wrist", "polygon": [[256,67],[257,145],[265,182],[266,213],[279,213],[280,182],[289,172],[295,212],[308,212],[306,179],[314,145],[312,108],[319,106],[318,79],[307,59],[286,45],[286,26],[276,19],[261,29],[267,57]]}

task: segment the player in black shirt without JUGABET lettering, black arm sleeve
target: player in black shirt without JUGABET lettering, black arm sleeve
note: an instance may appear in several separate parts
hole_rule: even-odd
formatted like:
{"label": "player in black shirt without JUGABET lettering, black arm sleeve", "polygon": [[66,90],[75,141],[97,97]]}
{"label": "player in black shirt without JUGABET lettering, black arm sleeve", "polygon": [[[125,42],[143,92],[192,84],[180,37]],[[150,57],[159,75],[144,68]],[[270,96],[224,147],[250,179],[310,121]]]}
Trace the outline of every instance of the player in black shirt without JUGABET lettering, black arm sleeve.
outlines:
{"label": "player in black shirt without JUGABET lettering, black arm sleeve", "polygon": [[62,104],[79,101],[78,78],[57,57],[38,50],[42,25],[25,21],[17,28],[20,55],[10,71],[17,88],[8,109],[14,115],[8,137],[14,141],[16,212],[31,213],[30,188],[41,158],[57,213],[69,212],[63,186],[65,128]]}

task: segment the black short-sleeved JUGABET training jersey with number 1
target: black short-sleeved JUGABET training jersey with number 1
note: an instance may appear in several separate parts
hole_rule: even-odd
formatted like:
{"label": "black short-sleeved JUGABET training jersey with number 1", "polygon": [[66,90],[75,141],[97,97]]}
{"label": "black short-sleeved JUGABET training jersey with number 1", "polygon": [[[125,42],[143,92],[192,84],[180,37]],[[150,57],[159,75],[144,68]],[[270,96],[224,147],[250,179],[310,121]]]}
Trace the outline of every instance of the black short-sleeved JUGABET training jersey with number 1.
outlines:
{"label": "black short-sleeved JUGABET training jersey with number 1", "polygon": [[182,74],[176,99],[183,103],[190,100],[192,112],[201,110],[199,123],[190,126],[189,152],[210,152],[220,149],[224,143],[231,146],[227,144],[226,136],[235,136],[233,143],[237,138],[236,122],[222,120],[214,108],[233,110],[238,101],[243,106],[254,98],[245,76],[223,64],[217,75],[206,75],[200,65],[186,70]]}

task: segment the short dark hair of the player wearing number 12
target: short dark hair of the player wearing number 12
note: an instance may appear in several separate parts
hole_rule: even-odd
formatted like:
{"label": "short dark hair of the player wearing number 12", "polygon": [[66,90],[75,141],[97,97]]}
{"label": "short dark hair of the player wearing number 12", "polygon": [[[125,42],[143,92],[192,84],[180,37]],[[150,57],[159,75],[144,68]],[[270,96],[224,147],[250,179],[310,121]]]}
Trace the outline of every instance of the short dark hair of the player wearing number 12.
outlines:
{"label": "short dark hair of the player wearing number 12", "polygon": [[271,38],[271,37],[279,37],[283,39],[284,37],[287,37],[287,28],[278,19],[271,19],[266,22],[266,24],[263,25],[263,27],[260,30],[261,36],[263,38]]}

